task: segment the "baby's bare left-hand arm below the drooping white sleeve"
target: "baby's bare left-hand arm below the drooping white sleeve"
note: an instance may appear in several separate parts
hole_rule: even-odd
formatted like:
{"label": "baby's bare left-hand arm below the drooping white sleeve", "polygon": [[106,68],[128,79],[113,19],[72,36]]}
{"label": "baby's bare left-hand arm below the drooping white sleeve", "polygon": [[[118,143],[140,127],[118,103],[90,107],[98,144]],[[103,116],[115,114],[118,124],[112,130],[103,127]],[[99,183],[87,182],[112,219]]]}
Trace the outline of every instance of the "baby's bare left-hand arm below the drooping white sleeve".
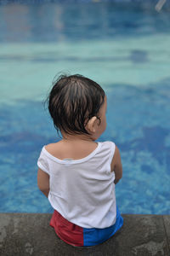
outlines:
{"label": "baby's bare left-hand arm below the drooping white sleeve", "polygon": [[37,186],[42,193],[48,197],[49,193],[49,175],[43,172],[40,168],[37,171]]}

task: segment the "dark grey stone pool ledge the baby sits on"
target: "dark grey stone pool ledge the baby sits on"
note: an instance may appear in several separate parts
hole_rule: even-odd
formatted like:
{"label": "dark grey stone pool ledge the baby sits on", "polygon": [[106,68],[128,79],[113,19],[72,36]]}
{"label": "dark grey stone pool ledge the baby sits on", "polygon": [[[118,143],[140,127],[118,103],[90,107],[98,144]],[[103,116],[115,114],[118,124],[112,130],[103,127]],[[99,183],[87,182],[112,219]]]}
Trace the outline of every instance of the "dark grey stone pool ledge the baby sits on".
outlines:
{"label": "dark grey stone pool ledge the baby sits on", "polygon": [[96,247],[71,247],[49,226],[51,214],[0,213],[0,255],[170,255],[170,215],[122,216],[122,230],[108,241]]}

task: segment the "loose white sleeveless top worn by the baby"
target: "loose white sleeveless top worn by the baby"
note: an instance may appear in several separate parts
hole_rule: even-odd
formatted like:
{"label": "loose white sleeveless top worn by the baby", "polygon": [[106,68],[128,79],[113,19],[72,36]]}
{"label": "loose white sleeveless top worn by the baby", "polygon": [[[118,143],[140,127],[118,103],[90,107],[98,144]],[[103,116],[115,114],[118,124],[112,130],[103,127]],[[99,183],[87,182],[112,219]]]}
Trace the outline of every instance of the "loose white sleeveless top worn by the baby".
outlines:
{"label": "loose white sleeveless top worn by the baby", "polygon": [[103,229],[116,223],[115,143],[98,143],[80,160],[59,160],[45,147],[37,166],[49,175],[48,200],[64,218],[82,228]]}

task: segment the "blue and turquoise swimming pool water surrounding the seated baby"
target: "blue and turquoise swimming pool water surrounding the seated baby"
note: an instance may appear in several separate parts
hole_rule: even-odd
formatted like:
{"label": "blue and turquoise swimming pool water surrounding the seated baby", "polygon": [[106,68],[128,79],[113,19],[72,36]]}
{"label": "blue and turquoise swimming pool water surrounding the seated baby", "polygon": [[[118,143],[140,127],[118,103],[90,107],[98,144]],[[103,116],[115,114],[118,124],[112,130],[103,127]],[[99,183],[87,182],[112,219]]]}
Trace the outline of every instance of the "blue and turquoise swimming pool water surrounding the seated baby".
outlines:
{"label": "blue and turquoise swimming pool water surrounding the seated baby", "polygon": [[121,150],[120,210],[170,214],[169,4],[87,2],[0,5],[0,211],[52,212],[37,158],[58,140],[43,102],[66,71],[107,94],[100,141]]}

